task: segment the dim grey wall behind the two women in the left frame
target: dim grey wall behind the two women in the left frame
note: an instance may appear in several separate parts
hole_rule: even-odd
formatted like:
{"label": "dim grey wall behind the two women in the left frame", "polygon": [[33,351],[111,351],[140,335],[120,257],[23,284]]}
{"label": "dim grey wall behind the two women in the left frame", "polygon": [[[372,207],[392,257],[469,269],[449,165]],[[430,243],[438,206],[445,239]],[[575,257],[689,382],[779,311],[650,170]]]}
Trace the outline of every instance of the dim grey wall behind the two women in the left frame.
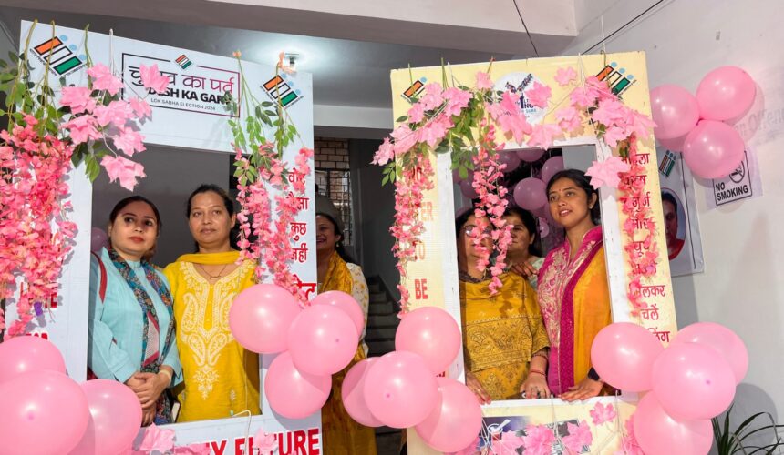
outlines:
{"label": "dim grey wall behind the two women in the left frame", "polygon": [[144,165],[147,177],[139,181],[133,193],[117,182],[109,183],[106,172],[93,184],[93,227],[106,229],[108,216],[117,202],[131,195],[152,201],[160,211],[163,230],[153,262],[161,267],[180,255],[193,252],[193,238],[188,230],[185,204],[191,192],[202,183],[229,189],[230,156],[220,152],[202,152],[181,148],[148,146],[134,156]]}

